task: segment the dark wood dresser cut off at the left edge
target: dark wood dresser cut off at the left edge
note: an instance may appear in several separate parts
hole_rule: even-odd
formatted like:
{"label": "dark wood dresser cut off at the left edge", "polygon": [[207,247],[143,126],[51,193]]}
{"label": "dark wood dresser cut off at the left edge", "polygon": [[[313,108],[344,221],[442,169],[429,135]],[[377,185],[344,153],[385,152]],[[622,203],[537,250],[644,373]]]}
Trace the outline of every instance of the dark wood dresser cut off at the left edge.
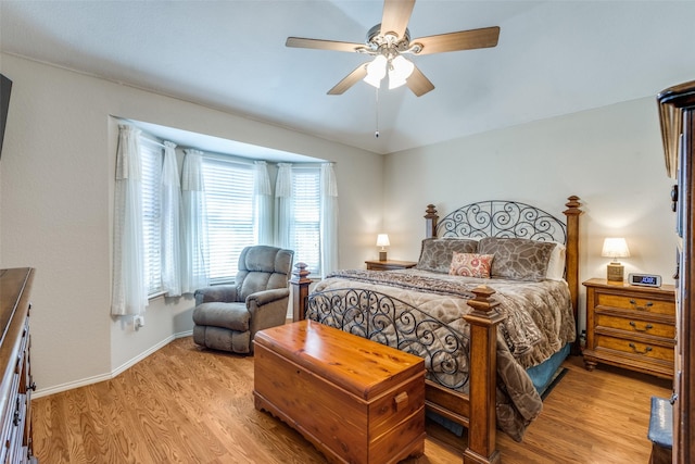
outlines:
{"label": "dark wood dresser cut off at the left edge", "polygon": [[0,463],[36,463],[31,449],[31,380],[29,364],[30,267],[0,269]]}

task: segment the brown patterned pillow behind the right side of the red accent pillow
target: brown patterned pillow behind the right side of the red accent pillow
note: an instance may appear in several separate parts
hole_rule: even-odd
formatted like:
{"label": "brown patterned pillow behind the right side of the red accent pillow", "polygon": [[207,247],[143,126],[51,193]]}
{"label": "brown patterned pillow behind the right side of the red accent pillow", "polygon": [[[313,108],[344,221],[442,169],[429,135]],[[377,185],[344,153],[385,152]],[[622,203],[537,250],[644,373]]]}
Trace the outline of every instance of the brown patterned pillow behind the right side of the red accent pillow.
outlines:
{"label": "brown patterned pillow behind the right side of the red accent pillow", "polygon": [[486,237],[478,243],[478,252],[495,255],[492,277],[540,281],[545,278],[555,246],[527,238]]}

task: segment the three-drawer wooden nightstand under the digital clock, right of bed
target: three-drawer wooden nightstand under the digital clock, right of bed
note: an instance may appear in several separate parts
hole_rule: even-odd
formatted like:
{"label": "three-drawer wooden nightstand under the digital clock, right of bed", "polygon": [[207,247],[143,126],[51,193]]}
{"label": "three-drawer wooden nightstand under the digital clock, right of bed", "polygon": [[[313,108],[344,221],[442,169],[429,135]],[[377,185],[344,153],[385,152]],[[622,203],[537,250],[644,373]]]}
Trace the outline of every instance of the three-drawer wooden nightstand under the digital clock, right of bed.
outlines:
{"label": "three-drawer wooden nightstand under the digital clock, right of bed", "polygon": [[675,288],[593,278],[586,287],[584,365],[597,363],[673,378]]}

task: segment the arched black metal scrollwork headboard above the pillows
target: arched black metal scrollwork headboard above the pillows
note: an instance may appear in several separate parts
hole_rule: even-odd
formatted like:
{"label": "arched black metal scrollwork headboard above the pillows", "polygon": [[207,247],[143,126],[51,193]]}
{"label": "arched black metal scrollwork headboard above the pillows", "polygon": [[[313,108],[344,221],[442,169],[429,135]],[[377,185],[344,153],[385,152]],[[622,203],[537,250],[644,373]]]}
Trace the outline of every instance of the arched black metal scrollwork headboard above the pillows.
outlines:
{"label": "arched black metal scrollwork headboard above the pillows", "polygon": [[[431,204],[427,212],[428,215],[437,214]],[[518,201],[492,200],[467,204],[432,226],[434,237],[518,237],[560,243],[567,241],[567,227],[563,221]]]}

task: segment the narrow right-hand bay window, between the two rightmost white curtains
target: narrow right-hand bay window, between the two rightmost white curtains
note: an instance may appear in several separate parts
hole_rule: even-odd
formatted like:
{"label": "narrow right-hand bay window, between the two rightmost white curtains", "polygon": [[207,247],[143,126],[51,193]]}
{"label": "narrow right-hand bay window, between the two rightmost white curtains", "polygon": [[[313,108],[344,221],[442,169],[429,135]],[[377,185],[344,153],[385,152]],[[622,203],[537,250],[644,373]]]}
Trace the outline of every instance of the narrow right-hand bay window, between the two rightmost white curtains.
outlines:
{"label": "narrow right-hand bay window, between the two rightmost white curtains", "polygon": [[294,262],[304,262],[312,274],[321,275],[319,167],[292,167],[292,200]]}

